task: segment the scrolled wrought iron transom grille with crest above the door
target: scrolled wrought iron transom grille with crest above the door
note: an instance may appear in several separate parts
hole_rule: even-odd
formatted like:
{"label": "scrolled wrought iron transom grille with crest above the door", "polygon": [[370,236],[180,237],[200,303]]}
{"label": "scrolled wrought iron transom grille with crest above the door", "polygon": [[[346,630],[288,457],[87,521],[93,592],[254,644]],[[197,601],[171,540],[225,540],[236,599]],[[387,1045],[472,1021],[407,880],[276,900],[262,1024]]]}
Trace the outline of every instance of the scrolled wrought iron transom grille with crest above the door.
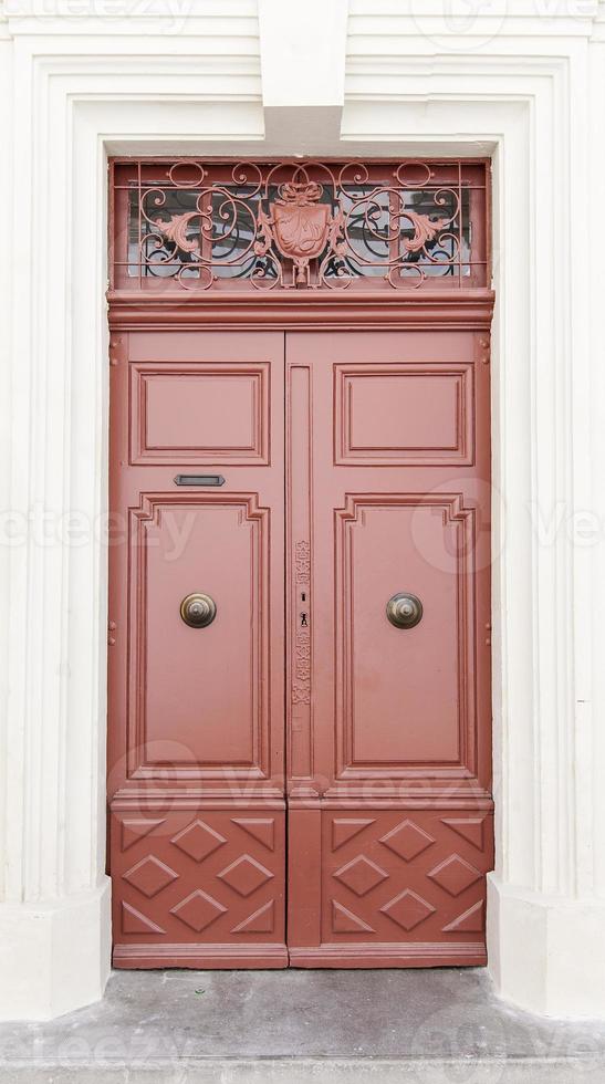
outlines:
{"label": "scrolled wrought iron transom grille with crest above the door", "polygon": [[469,288],[488,282],[477,160],[114,160],[112,286]]}

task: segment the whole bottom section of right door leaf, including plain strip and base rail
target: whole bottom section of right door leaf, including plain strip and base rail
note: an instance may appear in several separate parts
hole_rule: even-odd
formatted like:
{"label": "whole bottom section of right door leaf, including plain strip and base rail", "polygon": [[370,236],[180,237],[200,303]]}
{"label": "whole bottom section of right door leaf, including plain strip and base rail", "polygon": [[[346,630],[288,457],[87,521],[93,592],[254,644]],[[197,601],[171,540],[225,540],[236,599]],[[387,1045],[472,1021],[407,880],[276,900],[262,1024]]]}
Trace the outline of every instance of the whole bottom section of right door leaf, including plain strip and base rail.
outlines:
{"label": "whole bottom section of right door leaf, including plain strip and base rail", "polygon": [[[445,967],[486,963],[486,873],[493,819],[468,810],[325,810],[291,814],[321,852],[291,882],[317,908],[314,925],[290,904],[295,967]],[[313,819],[321,816],[321,838]],[[299,836],[296,836],[299,838]],[[291,842],[292,846],[292,842]],[[304,850],[301,850],[304,855]]]}

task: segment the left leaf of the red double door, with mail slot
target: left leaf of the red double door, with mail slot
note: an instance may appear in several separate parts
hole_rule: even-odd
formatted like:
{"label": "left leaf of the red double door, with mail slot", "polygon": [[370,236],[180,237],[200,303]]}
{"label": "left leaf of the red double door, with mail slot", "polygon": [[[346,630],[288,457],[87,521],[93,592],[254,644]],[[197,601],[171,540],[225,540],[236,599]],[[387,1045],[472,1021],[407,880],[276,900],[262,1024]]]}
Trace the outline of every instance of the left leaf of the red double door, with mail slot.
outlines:
{"label": "left leaf of the red double door, with mail slot", "polygon": [[283,334],[112,359],[114,962],[283,967]]}

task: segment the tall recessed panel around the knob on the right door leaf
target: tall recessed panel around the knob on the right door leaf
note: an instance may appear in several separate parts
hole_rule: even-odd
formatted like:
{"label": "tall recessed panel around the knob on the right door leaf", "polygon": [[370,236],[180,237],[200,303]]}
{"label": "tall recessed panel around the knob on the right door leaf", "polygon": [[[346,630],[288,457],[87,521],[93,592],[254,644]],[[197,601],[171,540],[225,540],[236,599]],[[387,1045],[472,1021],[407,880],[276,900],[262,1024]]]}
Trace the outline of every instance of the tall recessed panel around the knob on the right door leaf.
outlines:
{"label": "tall recessed panel around the knob on the right door leaf", "polygon": [[[343,768],[459,763],[465,639],[472,645],[462,540],[472,522],[452,519],[456,499],[395,493],[347,503],[335,521]],[[385,619],[389,598],[405,590],[423,606],[410,629]]]}

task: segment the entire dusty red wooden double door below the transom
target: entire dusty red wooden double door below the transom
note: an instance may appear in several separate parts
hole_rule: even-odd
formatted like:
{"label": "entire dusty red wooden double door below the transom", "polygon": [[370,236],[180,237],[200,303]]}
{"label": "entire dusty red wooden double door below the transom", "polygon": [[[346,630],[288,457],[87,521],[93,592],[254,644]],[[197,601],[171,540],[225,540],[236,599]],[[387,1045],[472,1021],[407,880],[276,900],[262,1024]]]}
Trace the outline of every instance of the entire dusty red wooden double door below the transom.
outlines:
{"label": "entire dusty red wooden double door below the transom", "polygon": [[484,332],[123,333],[118,967],[484,961]]}

